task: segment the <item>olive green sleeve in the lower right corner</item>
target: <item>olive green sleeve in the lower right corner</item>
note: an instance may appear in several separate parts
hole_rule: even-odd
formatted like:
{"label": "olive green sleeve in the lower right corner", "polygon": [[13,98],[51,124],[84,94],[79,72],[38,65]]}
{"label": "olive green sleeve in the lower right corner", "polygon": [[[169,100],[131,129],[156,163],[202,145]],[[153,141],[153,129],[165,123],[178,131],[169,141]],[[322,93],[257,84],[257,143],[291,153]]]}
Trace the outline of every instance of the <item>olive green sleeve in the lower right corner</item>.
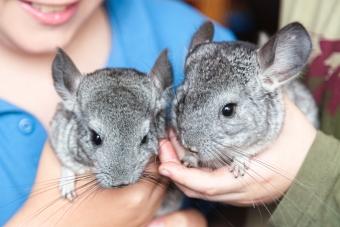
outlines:
{"label": "olive green sleeve in the lower right corner", "polygon": [[340,226],[340,142],[319,131],[270,226]]}

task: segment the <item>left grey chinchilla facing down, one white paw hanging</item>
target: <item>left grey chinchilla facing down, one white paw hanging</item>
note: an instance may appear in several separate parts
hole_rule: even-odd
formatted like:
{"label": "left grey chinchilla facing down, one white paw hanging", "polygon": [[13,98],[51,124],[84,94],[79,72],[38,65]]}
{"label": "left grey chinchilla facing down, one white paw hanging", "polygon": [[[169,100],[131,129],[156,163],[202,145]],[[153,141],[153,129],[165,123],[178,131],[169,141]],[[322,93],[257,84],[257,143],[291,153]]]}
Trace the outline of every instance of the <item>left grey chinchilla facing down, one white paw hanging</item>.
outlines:
{"label": "left grey chinchilla facing down, one white paw hanging", "polygon": [[62,164],[60,189],[72,200],[75,176],[92,172],[100,186],[115,188],[143,177],[165,136],[165,108],[172,84],[167,51],[149,75],[105,68],[82,75],[59,49],[52,64],[62,99],[51,122],[50,143]]}

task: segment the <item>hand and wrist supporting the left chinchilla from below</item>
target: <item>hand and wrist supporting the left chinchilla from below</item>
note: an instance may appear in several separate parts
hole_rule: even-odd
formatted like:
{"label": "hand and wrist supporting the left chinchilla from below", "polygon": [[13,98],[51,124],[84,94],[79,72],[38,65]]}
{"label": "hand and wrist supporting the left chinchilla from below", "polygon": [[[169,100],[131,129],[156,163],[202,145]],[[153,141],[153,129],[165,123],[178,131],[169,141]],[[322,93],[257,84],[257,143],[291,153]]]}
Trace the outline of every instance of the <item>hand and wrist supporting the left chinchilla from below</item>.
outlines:
{"label": "hand and wrist supporting the left chinchilla from below", "polygon": [[[148,171],[159,177],[156,165]],[[146,226],[166,191],[166,183],[144,180],[121,189],[101,189],[93,177],[80,176],[78,197],[70,203],[60,196],[59,177],[60,164],[47,145],[30,198],[7,226]]]}

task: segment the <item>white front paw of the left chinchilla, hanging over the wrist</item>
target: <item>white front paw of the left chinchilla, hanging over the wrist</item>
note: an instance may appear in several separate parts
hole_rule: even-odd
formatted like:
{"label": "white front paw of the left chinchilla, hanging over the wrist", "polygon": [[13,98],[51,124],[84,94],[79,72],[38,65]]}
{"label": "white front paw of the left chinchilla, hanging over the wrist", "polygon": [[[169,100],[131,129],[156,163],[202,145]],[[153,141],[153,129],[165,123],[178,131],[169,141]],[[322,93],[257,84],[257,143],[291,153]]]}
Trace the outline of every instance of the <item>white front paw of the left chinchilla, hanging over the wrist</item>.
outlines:
{"label": "white front paw of the left chinchilla, hanging over the wrist", "polygon": [[59,188],[61,195],[65,199],[73,201],[77,197],[75,191],[75,174],[72,170],[62,167]]}

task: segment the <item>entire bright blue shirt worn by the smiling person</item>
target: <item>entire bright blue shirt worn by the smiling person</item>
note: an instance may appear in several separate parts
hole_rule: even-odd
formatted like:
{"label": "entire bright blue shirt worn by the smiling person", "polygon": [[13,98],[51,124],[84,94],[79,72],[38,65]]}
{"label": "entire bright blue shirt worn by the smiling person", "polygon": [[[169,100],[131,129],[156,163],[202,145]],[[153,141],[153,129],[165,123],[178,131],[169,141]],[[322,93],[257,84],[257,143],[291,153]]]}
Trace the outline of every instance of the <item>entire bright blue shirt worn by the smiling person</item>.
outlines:
{"label": "entire bright blue shirt worn by the smiling person", "polygon": [[[206,18],[175,0],[107,0],[105,7],[112,31],[107,66],[148,72],[168,48],[178,85],[191,36]],[[214,39],[234,37],[216,25]],[[0,226],[27,199],[46,137],[34,116],[0,100]]]}

